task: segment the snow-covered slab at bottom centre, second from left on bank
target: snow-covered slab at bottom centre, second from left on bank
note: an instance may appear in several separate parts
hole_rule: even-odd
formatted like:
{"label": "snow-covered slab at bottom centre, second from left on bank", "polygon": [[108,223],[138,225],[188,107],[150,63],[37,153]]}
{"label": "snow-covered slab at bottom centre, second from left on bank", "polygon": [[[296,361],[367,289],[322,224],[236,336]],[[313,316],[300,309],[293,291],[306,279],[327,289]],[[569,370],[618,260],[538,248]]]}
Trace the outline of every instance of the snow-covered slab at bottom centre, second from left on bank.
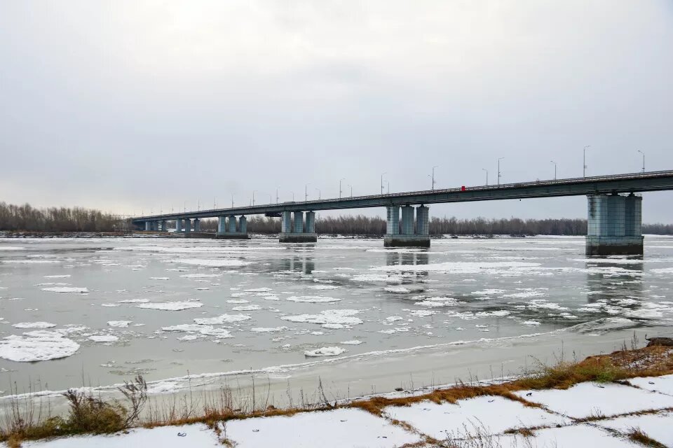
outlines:
{"label": "snow-covered slab at bottom centre, second from left on bank", "polygon": [[420,440],[418,435],[360,409],[228,421],[226,437],[237,448],[392,448]]}

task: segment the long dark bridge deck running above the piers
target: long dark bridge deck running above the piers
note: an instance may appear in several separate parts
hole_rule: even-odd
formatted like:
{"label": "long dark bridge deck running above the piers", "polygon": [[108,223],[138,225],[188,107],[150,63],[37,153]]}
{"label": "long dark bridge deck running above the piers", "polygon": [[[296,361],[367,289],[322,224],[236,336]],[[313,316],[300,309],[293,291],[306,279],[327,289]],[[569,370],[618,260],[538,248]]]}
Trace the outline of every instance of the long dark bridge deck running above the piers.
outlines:
{"label": "long dark bridge deck running above the piers", "polygon": [[673,190],[673,171],[592,176],[555,181],[506,183],[500,186],[476,186],[423,190],[387,195],[344,197],[301,202],[261,204],[252,207],[186,211],[182,213],[138,216],[134,222],[163,221],[177,218],[212,218],[229,215],[279,214],[283,211],[318,211],[338,209],[362,209],[407,204],[439,204],[447,202],[473,202],[533,197],[559,197],[600,195],[612,193],[642,193],[646,191]]}

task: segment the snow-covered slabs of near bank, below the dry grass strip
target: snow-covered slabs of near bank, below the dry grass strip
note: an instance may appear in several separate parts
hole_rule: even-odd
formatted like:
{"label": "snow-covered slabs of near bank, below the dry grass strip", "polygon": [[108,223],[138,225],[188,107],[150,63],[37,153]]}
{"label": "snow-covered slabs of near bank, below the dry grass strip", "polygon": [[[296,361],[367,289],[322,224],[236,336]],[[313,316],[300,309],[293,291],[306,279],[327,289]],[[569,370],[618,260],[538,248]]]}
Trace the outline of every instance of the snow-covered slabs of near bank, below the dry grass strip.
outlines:
{"label": "snow-covered slabs of near bank, below the dry grass strip", "polygon": [[[646,380],[636,378],[632,383]],[[657,382],[670,391],[673,375],[657,377]],[[238,448],[393,448],[411,444],[414,447],[438,447],[444,446],[438,442],[481,437],[488,443],[483,446],[494,448],[638,447],[642,445],[629,438],[636,428],[664,446],[673,446],[673,431],[670,430],[673,395],[630,385],[592,382],[566,390],[522,391],[519,395],[524,402],[495,395],[458,400],[455,404],[421,401],[410,406],[388,406],[381,416],[346,407],[222,421],[214,429],[201,423],[164,426],[119,435],[27,442],[22,446],[205,448],[225,444]],[[587,399],[587,396],[591,398]],[[566,408],[577,405],[581,408],[579,413],[567,413]],[[614,415],[607,418],[603,411]],[[583,420],[587,416],[592,416],[590,422]]]}

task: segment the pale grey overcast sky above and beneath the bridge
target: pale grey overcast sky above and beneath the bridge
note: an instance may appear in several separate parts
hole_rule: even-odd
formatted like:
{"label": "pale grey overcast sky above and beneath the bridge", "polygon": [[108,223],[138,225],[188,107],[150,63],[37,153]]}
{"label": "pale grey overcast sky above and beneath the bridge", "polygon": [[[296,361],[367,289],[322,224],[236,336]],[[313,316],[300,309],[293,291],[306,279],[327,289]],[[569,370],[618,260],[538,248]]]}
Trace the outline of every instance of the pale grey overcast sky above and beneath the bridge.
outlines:
{"label": "pale grey overcast sky above and beneath the bridge", "polygon": [[[0,201],[126,214],[673,169],[670,0],[0,1]],[[673,192],[644,221],[673,222]],[[363,211],[383,216],[383,209]],[[585,217],[584,197],[433,216]]]}

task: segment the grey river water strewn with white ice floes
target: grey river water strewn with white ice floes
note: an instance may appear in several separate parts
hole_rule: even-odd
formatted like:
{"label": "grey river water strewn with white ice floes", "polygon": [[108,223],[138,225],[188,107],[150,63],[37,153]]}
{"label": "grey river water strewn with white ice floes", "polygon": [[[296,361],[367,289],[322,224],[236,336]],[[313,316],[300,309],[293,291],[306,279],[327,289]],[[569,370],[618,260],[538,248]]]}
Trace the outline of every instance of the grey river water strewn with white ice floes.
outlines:
{"label": "grey river water strewn with white ice floes", "polygon": [[414,374],[449,382],[456,365],[498,376],[564,338],[601,351],[625,330],[669,328],[673,238],[646,237],[642,260],[583,252],[580,237],[433,239],[427,250],[347,238],[0,239],[0,390],[143,374],[166,393],[257,372],[278,391],[320,374],[363,393]]}

